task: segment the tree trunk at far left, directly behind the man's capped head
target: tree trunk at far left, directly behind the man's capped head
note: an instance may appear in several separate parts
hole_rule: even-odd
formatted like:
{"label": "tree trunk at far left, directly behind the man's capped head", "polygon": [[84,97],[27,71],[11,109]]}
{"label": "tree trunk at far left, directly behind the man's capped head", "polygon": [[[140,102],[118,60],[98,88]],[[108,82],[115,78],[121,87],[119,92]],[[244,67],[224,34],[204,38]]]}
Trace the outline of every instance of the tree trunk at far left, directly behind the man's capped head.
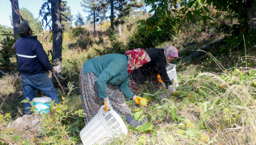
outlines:
{"label": "tree trunk at far left, directly behind the man's capped head", "polygon": [[[18,0],[12,0],[16,8],[19,10],[19,2]],[[18,25],[20,23],[20,17],[16,9],[11,4],[11,10],[12,10],[12,23],[13,23],[13,34],[15,36],[18,36]]]}

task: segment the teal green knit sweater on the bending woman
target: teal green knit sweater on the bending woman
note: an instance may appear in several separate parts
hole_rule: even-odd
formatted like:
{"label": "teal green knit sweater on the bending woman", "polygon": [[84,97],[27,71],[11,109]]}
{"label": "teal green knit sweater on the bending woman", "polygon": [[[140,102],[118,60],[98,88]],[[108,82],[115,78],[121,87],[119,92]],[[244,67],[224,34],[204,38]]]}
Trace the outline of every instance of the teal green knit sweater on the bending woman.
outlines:
{"label": "teal green knit sweater on the bending woman", "polygon": [[97,76],[98,95],[108,97],[106,84],[118,86],[118,89],[130,100],[135,95],[128,88],[130,75],[127,71],[128,57],[121,54],[107,54],[84,62],[84,73],[93,72]]}

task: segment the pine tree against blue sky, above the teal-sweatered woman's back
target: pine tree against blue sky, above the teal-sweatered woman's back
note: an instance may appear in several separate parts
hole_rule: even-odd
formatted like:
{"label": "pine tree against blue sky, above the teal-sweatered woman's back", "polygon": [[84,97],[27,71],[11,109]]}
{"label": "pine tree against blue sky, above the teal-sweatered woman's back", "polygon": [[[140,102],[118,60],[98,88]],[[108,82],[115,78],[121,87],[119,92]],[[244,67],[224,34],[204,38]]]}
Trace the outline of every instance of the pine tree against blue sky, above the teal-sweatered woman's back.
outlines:
{"label": "pine tree against blue sky, above the teal-sweatered woman's back", "polygon": [[83,3],[80,2],[80,4],[84,7],[84,12],[89,12],[87,19],[93,19],[93,32],[95,33],[95,24],[105,18],[107,9],[104,8],[100,0],[83,0]]}

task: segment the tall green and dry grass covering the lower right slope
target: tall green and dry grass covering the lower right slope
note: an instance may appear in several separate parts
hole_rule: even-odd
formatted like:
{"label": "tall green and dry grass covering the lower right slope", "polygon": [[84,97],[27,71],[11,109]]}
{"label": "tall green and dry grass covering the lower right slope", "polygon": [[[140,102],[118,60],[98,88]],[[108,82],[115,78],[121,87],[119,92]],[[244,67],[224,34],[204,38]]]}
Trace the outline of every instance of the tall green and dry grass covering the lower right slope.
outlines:
{"label": "tall green and dry grass covering the lower right slope", "polygon": [[[230,76],[230,73],[220,75]],[[177,88],[179,93],[175,100],[166,95],[164,103],[150,101],[144,107],[144,114],[149,118],[148,123],[156,127],[150,133],[131,132],[130,129],[127,136],[122,136],[113,143],[255,144],[256,89],[251,86],[256,80],[255,74],[248,80],[248,85],[246,81],[239,80],[228,84],[220,75],[201,73]],[[181,89],[188,83],[193,88]],[[225,87],[220,88],[220,83]],[[193,89],[203,97],[202,100],[186,97],[185,92]],[[132,109],[136,108],[135,104],[129,105]],[[177,122],[171,117],[171,107],[175,107],[179,115]]]}

